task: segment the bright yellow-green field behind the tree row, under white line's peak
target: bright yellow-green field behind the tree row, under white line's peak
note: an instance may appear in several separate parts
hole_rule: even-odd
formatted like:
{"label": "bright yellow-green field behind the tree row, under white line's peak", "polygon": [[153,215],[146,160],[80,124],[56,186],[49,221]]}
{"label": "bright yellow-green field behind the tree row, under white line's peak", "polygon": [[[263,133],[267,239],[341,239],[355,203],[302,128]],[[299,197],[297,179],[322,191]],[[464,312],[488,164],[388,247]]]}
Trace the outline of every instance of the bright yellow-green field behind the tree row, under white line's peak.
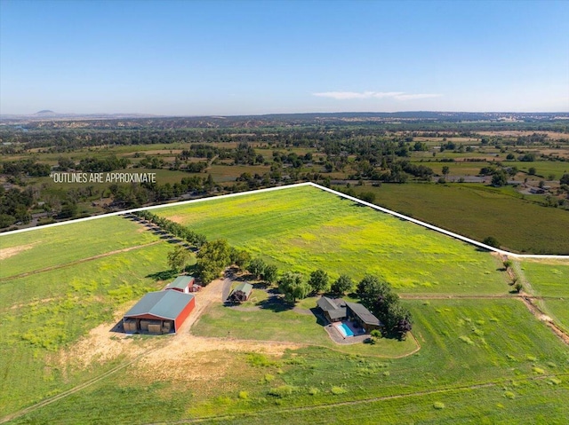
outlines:
{"label": "bright yellow-green field behind the tree row, under white line's peak", "polygon": [[333,279],[378,274],[398,292],[505,294],[500,263],[466,243],[314,187],[197,202],[154,212],[210,240],[225,238],[281,271]]}

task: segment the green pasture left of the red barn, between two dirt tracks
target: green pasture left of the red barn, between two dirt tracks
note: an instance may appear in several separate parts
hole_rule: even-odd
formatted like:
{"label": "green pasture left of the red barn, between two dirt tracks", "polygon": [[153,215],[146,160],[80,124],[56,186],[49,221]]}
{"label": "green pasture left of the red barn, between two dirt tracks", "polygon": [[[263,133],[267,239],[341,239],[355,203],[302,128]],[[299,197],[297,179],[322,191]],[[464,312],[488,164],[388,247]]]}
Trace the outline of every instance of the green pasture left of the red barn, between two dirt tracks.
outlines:
{"label": "green pasture left of the red barn, between two dirt tracks", "polygon": [[61,364],[60,355],[126,303],[163,287],[148,276],[168,269],[170,249],[161,243],[0,282],[0,415],[104,372],[108,364],[82,371],[78,359]]}

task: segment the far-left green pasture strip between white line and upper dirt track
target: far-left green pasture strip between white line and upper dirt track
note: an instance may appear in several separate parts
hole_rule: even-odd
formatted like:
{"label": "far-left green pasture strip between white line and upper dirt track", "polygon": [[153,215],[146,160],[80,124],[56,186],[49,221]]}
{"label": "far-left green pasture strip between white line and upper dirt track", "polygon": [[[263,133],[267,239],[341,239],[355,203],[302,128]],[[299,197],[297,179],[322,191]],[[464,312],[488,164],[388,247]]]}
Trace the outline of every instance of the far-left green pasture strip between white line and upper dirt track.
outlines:
{"label": "far-left green pasture strip between white line and upper dirt track", "polygon": [[0,236],[0,248],[25,248],[15,256],[2,260],[0,286],[3,280],[24,272],[79,261],[124,248],[132,248],[159,240],[152,232],[120,216],[96,218],[37,229],[31,232]]}

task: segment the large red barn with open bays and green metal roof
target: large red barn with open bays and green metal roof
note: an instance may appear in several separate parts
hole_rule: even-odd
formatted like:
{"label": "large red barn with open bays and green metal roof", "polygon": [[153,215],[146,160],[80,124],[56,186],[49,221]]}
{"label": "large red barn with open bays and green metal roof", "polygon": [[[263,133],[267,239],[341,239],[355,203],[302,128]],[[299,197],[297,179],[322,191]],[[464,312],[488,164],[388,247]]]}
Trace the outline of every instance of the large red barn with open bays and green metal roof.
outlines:
{"label": "large red barn with open bays and green metal roof", "polygon": [[123,317],[124,332],[177,332],[196,306],[196,298],[180,291],[148,292]]}

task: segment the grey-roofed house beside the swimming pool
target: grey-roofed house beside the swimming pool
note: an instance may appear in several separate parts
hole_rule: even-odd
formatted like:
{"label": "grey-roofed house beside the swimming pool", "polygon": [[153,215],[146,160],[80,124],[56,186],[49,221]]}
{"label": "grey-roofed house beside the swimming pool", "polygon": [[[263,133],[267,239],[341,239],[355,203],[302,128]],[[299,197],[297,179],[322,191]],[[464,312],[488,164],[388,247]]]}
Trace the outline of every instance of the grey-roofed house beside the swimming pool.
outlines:
{"label": "grey-roofed house beside the swimming pool", "polygon": [[362,304],[349,303],[341,298],[334,300],[327,296],[322,296],[318,299],[317,305],[323,311],[325,319],[331,323],[351,320],[358,327],[363,328],[366,333],[382,327],[380,319],[373,316],[373,313]]}

